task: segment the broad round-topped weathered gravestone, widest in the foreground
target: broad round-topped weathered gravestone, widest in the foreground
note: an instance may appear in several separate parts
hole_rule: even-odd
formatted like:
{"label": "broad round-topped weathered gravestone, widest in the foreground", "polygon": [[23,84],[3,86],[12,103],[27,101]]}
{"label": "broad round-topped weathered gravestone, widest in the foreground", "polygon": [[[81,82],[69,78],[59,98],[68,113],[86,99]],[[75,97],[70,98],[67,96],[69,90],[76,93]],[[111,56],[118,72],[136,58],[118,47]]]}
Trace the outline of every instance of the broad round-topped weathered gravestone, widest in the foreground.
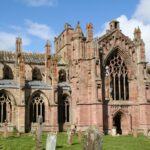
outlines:
{"label": "broad round-topped weathered gravestone, widest in the foreground", "polygon": [[102,133],[96,127],[85,131],[83,150],[102,150]]}

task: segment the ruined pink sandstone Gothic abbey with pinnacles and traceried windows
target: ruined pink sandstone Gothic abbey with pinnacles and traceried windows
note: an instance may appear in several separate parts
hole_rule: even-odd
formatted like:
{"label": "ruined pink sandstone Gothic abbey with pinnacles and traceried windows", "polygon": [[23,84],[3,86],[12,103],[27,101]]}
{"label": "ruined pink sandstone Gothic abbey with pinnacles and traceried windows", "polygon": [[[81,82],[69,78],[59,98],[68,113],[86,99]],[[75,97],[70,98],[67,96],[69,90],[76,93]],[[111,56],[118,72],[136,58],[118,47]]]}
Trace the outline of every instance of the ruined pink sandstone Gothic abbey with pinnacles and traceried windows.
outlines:
{"label": "ruined pink sandstone Gothic abbey with pinnacles and traceried windows", "polygon": [[141,31],[125,36],[113,20],[101,37],[93,25],[83,34],[68,23],[44,53],[28,53],[22,39],[15,52],[0,48],[0,130],[30,132],[42,116],[44,131],[85,130],[111,134],[150,132],[150,65]]}

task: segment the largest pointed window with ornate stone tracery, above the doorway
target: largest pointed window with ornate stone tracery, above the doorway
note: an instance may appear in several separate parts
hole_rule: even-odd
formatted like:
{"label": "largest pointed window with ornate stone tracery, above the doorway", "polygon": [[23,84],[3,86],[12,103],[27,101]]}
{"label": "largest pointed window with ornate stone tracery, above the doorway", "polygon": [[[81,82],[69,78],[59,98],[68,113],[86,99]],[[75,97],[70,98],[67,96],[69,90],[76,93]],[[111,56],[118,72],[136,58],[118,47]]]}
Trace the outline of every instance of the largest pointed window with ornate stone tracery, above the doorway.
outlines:
{"label": "largest pointed window with ornate stone tracery, above the doorway", "polygon": [[113,100],[129,99],[128,70],[123,59],[115,51],[106,63],[106,80],[109,82],[109,97]]}

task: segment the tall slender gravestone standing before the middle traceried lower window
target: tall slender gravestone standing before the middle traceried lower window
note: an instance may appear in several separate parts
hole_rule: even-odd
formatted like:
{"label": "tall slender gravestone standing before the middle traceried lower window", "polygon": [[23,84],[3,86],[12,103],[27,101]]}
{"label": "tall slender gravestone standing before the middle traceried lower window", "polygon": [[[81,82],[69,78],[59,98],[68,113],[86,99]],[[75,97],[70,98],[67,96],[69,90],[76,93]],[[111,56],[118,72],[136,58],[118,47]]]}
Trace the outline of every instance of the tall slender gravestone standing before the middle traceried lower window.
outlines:
{"label": "tall slender gravestone standing before the middle traceried lower window", "polygon": [[36,130],[36,150],[42,149],[42,116],[38,116],[38,124]]}

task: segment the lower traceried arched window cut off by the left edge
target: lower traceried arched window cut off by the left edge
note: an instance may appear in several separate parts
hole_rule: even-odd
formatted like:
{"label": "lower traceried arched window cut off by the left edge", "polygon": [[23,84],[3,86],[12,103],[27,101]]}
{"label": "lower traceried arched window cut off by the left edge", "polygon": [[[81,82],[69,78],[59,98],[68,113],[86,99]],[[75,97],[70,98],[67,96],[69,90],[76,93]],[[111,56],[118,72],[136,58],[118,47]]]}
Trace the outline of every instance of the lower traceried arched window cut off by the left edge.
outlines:
{"label": "lower traceried arched window cut off by the left edge", "polygon": [[11,122],[12,119],[12,104],[8,94],[4,91],[0,91],[0,123],[4,123],[6,120]]}

